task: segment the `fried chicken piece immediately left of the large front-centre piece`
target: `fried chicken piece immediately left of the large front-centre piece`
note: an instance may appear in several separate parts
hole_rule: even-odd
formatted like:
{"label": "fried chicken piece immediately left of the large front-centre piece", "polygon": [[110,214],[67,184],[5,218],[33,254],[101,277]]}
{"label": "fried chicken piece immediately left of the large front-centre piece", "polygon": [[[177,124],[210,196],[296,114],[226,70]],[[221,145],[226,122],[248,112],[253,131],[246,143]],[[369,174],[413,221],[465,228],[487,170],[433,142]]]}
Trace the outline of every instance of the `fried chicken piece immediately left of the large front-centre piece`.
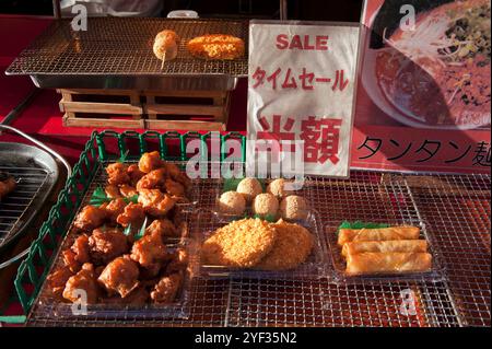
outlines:
{"label": "fried chicken piece immediately left of the large front-centre piece", "polygon": [[63,298],[71,302],[77,302],[81,299],[81,291],[85,292],[87,304],[97,303],[99,287],[92,264],[84,264],[82,269],[67,281]]}

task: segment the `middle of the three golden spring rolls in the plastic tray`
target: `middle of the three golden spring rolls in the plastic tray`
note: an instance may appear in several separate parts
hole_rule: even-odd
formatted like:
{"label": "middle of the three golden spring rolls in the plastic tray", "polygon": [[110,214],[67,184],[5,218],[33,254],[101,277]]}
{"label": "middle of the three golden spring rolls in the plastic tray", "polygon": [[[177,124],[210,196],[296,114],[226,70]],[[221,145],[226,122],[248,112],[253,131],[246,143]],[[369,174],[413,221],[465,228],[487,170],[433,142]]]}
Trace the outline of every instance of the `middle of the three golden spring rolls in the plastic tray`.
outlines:
{"label": "middle of the three golden spring rolls in the plastic tray", "polygon": [[354,241],[347,243],[342,248],[342,256],[360,253],[425,253],[427,242],[425,240],[390,240],[390,241]]}

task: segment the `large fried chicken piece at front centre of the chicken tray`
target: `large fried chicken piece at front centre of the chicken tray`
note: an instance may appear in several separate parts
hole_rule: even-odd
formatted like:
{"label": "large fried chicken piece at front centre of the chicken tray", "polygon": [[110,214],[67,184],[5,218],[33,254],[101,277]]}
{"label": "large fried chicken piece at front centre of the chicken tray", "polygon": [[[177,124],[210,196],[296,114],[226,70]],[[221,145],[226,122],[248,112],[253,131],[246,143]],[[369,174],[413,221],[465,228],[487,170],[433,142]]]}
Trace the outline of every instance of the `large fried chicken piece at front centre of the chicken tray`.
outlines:
{"label": "large fried chicken piece at front centre of the chicken tray", "polygon": [[126,298],[139,287],[139,266],[129,256],[118,257],[104,268],[97,281],[109,294]]}

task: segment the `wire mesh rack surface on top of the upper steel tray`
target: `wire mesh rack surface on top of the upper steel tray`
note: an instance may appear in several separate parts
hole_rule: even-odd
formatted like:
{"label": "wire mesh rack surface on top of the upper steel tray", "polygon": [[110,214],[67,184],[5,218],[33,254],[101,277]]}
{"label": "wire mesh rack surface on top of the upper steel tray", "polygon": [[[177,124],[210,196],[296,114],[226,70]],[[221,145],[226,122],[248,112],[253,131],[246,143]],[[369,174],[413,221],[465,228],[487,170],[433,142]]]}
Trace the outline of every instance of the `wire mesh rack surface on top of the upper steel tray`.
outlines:
{"label": "wire mesh rack surface on top of the upper steel tray", "polygon": [[[152,50],[155,35],[173,30],[181,38],[178,56],[162,66]],[[248,47],[248,23],[222,20],[90,19],[87,31],[74,32],[71,22],[51,24],[7,70],[9,74],[247,75],[247,53],[236,60],[192,57],[186,44],[206,34],[230,34]]]}

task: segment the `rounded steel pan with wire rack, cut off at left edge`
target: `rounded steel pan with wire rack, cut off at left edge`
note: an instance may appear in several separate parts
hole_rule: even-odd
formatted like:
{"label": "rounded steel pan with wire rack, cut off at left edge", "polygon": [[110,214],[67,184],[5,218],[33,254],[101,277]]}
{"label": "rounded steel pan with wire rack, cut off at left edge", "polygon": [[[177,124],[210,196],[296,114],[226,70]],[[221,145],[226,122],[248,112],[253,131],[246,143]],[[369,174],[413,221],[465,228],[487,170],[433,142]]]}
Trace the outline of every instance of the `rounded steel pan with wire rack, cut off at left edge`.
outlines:
{"label": "rounded steel pan with wire rack, cut off at left edge", "polygon": [[0,171],[17,181],[0,202],[0,252],[22,235],[42,210],[59,171],[50,154],[36,147],[0,142]]}

